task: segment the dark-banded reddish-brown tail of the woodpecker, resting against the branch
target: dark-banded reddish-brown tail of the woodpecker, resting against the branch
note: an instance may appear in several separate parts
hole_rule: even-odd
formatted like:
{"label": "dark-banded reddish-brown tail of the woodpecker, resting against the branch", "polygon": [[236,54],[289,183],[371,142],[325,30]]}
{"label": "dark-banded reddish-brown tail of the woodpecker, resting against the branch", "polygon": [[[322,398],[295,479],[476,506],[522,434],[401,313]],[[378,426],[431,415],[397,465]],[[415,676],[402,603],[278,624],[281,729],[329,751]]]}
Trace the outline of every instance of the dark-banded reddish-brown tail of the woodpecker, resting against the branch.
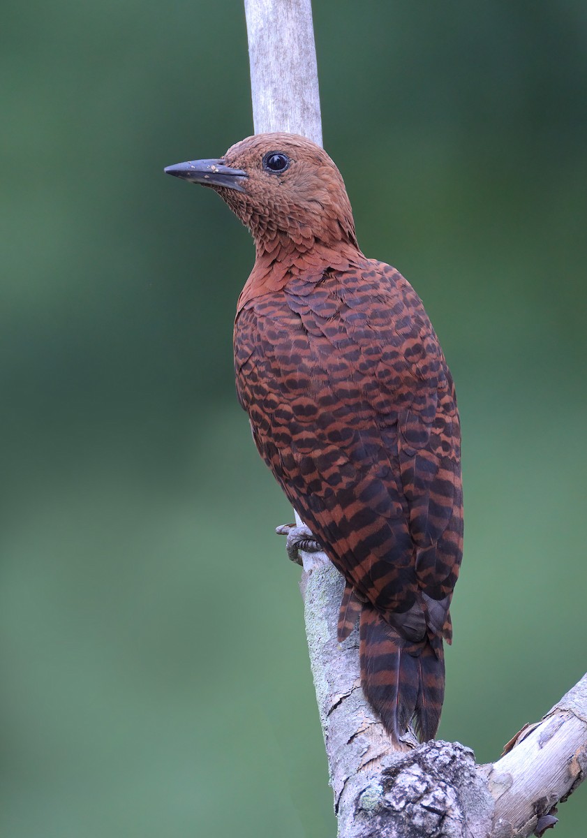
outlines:
{"label": "dark-banded reddish-brown tail of the woodpecker, resting against the branch", "polygon": [[445,693],[442,639],[406,640],[368,604],[360,637],[363,691],[389,736],[399,744],[414,719],[420,742],[433,739]]}

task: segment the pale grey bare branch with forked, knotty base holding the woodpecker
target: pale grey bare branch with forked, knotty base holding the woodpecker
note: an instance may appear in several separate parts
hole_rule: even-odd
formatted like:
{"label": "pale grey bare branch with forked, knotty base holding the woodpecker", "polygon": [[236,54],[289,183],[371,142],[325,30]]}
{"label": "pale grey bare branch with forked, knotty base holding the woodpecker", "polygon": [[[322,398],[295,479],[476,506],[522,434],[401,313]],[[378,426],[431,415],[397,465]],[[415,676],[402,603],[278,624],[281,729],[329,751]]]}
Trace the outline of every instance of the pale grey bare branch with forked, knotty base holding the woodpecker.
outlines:
{"label": "pale grey bare branch with forked, knotty base holding the woodpecker", "polygon": [[[245,0],[245,14],[255,133],[322,145],[311,0]],[[339,838],[513,838],[552,825],[554,804],[587,771],[587,675],[496,763],[476,766],[470,748],[417,745],[410,733],[394,751],[361,690],[357,630],[337,643],[342,577],[323,553],[301,558]]]}

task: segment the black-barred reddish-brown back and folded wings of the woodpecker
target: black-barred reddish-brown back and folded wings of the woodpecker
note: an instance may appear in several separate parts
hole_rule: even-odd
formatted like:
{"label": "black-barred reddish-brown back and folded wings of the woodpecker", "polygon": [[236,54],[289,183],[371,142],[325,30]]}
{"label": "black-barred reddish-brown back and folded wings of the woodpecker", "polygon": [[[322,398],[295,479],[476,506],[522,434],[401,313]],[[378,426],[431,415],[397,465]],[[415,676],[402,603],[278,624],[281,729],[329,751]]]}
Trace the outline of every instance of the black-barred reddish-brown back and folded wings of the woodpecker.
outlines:
{"label": "black-barred reddish-brown back and folded wings of the woodpecker", "polygon": [[364,260],[251,300],[234,342],[255,443],[348,586],[409,639],[448,634],[460,428],[420,298]]}

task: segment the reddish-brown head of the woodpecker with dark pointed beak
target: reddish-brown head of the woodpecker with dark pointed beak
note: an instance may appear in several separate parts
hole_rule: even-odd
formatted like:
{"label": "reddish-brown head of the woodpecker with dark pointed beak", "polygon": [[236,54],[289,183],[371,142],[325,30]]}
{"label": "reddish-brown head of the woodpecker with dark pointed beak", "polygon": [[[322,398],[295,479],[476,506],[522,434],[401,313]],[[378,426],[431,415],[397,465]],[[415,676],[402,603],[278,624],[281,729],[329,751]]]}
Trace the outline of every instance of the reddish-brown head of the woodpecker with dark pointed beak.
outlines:
{"label": "reddish-brown head of the woodpecker with dark pointed beak", "polygon": [[353,211],[337,167],[316,143],[296,134],[247,137],[222,158],[168,166],[178,178],[215,189],[245,224],[259,251],[357,246]]}

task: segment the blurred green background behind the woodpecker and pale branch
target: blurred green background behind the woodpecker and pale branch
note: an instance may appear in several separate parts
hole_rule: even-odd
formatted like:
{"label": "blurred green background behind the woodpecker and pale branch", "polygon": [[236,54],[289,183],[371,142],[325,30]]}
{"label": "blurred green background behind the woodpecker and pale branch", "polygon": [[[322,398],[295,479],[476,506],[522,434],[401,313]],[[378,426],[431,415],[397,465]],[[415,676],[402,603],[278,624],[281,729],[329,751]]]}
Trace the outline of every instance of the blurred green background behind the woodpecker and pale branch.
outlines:
{"label": "blurred green background behind the woodpecker and pale branch", "polygon": [[[488,761],[587,669],[587,7],[314,16],[359,241],[456,379],[440,736]],[[234,397],[253,248],[162,173],[252,131],[243,8],[4,0],[0,45],[0,834],[330,838],[291,511]],[[556,835],[586,816],[579,789]]]}

